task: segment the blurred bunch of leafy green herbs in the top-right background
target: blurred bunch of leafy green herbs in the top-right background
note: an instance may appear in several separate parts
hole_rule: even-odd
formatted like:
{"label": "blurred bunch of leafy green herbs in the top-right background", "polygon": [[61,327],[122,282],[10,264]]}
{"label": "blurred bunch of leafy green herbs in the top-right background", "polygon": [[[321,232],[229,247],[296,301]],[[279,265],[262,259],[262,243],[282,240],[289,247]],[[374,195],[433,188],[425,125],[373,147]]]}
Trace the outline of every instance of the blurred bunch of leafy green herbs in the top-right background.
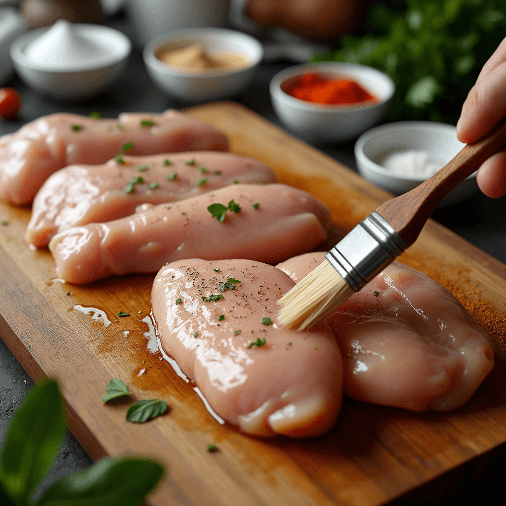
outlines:
{"label": "blurred bunch of leafy green herbs in the top-right background", "polygon": [[396,93],[387,121],[455,124],[484,63],[506,35],[504,0],[403,0],[405,10],[371,9],[370,34],[345,36],[314,61],[361,63],[387,73]]}

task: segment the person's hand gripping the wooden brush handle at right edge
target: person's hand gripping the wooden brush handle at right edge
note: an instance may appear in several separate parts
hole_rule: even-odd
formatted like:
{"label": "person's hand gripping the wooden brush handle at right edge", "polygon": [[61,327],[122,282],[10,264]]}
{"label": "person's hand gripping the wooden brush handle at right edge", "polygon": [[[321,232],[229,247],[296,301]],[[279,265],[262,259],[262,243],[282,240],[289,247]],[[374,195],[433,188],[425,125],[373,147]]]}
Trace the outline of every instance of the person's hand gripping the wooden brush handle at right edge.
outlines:
{"label": "person's hand gripping the wooden brush handle at right edge", "polygon": [[[481,139],[506,116],[506,38],[483,65],[475,85],[462,105],[457,122],[460,142]],[[476,182],[489,197],[506,194],[506,150],[485,160],[478,169]]]}

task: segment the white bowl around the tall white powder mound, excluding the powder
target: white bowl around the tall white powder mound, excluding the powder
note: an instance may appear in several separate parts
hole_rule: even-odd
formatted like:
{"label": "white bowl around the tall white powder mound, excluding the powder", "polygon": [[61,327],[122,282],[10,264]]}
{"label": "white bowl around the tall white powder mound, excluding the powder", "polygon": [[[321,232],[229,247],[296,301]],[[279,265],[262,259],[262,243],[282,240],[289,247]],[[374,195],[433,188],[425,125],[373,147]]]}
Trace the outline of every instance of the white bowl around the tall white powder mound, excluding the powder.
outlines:
{"label": "white bowl around the tall white powder mound, excluding the powder", "polygon": [[89,98],[108,88],[128,63],[132,50],[130,39],[118,30],[93,24],[73,25],[77,33],[86,33],[107,47],[110,56],[91,63],[75,62],[61,69],[44,61],[33,62],[25,54],[26,47],[50,27],[38,28],[19,36],[11,45],[14,68],[21,80],[36,92],[58,100]]}

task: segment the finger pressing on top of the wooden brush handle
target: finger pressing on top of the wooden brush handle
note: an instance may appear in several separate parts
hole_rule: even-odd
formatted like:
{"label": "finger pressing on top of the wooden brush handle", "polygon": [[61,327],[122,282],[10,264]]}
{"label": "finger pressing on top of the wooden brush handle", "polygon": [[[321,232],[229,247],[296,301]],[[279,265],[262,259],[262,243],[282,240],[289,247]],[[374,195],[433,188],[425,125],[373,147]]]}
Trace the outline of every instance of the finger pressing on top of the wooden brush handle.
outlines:
{"label": "finger pressing on top of the wooden brush handle", "polygon": [[470,143],[481,139],[506,115],[506,62],[471,88],[457,121],[457,138]]}

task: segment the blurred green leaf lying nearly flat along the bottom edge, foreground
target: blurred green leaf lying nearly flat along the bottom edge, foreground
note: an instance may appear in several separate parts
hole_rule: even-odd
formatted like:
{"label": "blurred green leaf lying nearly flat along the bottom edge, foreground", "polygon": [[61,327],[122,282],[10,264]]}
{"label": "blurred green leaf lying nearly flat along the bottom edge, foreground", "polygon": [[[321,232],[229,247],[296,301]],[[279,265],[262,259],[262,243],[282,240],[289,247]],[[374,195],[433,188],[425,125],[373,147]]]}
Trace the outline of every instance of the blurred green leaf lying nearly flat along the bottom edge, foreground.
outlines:
{"label": "blurred green leaf lying nearly flat along the bottom edge, foreground", "polygon": [[103,458],[56,482],[35,506],[139,506],[162,476],[152,460]]}

